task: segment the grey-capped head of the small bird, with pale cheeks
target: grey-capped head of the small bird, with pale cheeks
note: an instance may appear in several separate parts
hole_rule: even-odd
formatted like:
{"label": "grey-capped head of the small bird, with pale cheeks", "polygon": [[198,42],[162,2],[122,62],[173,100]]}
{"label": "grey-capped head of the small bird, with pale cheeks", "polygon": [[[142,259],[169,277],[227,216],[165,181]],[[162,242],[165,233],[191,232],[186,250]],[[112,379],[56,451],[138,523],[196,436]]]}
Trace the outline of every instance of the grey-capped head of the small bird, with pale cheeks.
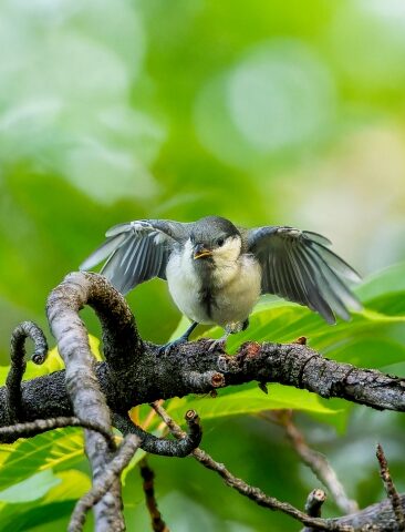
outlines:
{"label": "grey-capped head of the small bird, with pale cheeks", "polygon": [[196,222],[190,236],[191,256],[198,263],[220,264],[235,262],[241,250],[241,236],[229,219],[207,216]]}

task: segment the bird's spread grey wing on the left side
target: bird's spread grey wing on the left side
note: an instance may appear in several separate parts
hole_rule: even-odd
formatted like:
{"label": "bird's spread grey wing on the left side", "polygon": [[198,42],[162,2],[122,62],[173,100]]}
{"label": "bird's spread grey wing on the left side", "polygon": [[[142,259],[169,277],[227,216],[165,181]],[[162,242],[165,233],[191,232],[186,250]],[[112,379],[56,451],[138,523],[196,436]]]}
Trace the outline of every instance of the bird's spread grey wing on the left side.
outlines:
{"label": "bird's spread grey wing on the left side", "polygon": [[173,246],[187,237],[189,225],[166,219],[115,225],[105,233],[104,244],[81,264],[80,269],[90,269],[106,259],[101,273],[122,294],[152,277],[165,279]]}

